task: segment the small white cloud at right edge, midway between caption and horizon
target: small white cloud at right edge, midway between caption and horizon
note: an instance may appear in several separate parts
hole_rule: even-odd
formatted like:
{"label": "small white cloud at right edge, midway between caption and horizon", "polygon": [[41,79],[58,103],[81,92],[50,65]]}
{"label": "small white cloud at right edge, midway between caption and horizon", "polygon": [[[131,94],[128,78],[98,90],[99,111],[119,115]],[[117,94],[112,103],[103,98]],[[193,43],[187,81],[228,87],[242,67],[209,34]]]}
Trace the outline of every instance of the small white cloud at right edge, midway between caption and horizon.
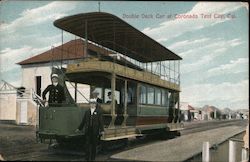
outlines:
{"label": "small white cloud at right edge, midway between caption and horizon", "polygon": [[218,76],[221,74],[232,74],[247,71],[248,58],[238,58],[231,60],[228,64],[220,65],[218,67],[208,70],[208,76]]}

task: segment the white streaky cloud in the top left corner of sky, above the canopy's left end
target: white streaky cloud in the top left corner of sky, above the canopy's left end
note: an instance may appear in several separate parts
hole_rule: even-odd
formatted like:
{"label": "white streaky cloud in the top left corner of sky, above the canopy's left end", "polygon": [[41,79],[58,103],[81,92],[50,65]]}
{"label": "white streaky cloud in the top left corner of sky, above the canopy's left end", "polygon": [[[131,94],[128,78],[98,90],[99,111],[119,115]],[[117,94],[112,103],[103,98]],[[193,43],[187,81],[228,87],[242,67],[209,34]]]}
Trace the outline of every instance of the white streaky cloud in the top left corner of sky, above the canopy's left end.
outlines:
{"label": "white streaky cloud in the top left corner of sky, above the canopy's left end", "polygon": [[48,20],[55,20],[65,16],[67,11],[74,9],[75,2],[51,2],[47,5],[28,9],[20,14],[20,17],[10,23],[3,23],[0,31],[14,32],[20,27],[33,26]]}

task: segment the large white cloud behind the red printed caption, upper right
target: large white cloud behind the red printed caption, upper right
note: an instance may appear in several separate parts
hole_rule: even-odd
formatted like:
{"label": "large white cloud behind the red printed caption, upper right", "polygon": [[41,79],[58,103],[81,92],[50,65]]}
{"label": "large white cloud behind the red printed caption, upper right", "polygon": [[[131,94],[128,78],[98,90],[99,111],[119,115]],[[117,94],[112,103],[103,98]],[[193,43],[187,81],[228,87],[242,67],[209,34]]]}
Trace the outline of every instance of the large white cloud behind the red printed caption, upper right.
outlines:
{"label": "large white cloud behind the red printed caption, upper right", "polygon": [[[187,13],[179,14],[179,18],[161,23],[154,28],[145,28],[142,32],[156,39],[157,41],[165,41],[173,37],[180,36],[183,33],[210,27],[230,18],[202,18],[202,14],[228,14],[243,7],[240,2],[198,2],[192,10]],[[196,18],[187,18],[193,16]],[[181,18],[180,18],[181,17]],[[186,17],[186,18],[184,18]]]}

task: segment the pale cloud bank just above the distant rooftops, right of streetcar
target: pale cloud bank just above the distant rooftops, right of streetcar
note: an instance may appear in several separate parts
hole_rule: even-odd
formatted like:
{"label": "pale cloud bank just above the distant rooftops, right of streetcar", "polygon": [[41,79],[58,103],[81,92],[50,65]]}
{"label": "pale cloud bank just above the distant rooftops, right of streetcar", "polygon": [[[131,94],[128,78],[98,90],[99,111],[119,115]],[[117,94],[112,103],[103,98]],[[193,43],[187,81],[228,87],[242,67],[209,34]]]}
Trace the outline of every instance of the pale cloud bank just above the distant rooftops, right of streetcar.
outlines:
{"label": "pale cloud bank just above the distant rooftops, right of streetcar", "polygon": [[248,103],[248,89],[248,80],[238,83],[197,84],[184,87],[181,100],[196,106],[203,106],[200,103],[213,105],[214,102],[218,102],[221,103],[219,106],[231,107],[235,102]]}

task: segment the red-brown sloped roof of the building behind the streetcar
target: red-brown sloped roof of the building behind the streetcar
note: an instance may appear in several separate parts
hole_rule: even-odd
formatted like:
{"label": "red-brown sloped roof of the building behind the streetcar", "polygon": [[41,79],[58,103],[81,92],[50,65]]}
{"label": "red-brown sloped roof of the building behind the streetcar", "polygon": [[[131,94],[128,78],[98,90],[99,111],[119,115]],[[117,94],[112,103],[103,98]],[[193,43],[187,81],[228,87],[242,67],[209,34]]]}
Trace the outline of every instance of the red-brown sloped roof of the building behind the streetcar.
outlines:
{"label": "red-brown sloped roof of the building behind the streetcar", "polygon": [[[86,54],[84,53],[84,43],[85,41],[82,39],[71,40],[69,42],[64,43],[63,45],[52,48],[34,57],[18,62],[17,64],[27,65],[47,63],[51,61],[80,59],[86,56]],[[88,43],[88,53],[100,53],[103,55],[108,55],[109,53],[113,52],[101,48],[95,44]]]}

